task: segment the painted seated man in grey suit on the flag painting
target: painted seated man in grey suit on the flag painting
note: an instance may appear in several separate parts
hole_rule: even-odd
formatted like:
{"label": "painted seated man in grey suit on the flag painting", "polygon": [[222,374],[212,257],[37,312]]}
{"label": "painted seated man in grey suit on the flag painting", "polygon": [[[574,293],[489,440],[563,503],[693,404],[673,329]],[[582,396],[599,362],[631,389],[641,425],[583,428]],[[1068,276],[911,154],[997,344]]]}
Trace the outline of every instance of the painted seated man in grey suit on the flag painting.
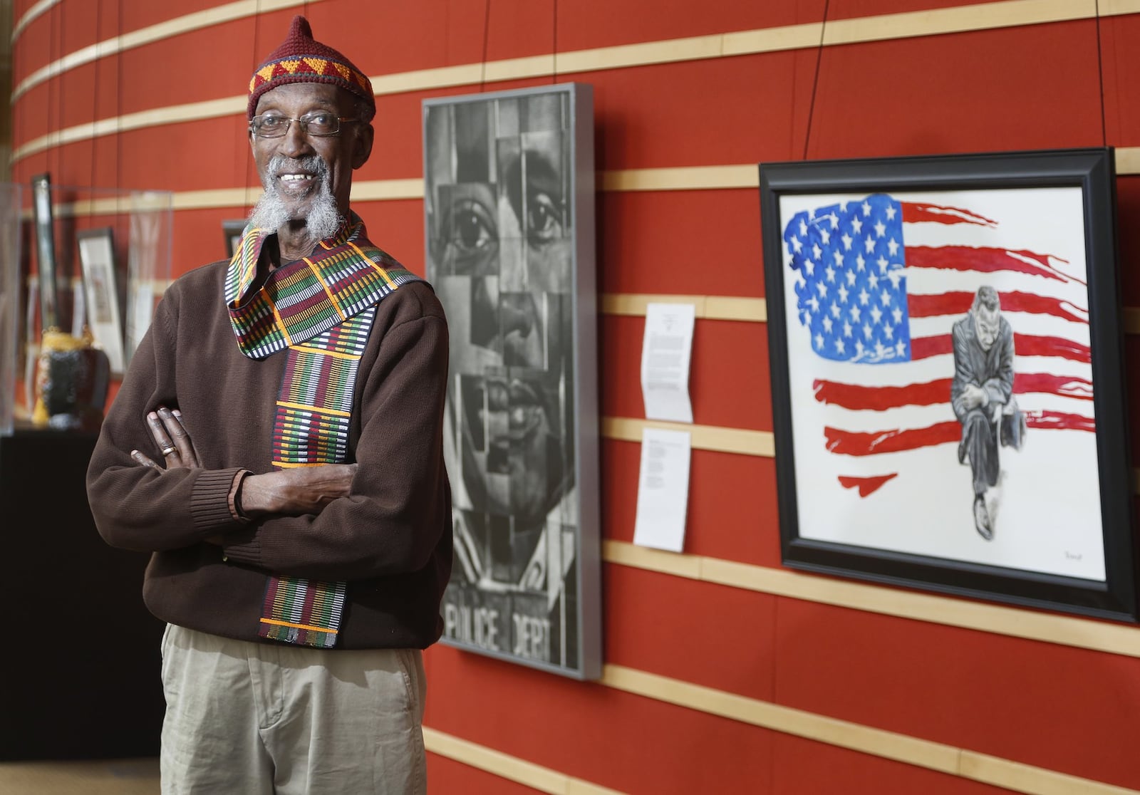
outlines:
{"label": "painted seated man in grey suit on the flag painting", "polygon": [[[986,541],[993,524],[986,491],[997,483],[999,442],[1020,446],[1024,419],[1013,401],[1013,329],[1001,315],[997,292],[985,285],[969,313],[954,323],[951,404],[962,424],[958,461],[974,474],[974,526]],[[1003,429],[1004,423],[1004,429]]]}

